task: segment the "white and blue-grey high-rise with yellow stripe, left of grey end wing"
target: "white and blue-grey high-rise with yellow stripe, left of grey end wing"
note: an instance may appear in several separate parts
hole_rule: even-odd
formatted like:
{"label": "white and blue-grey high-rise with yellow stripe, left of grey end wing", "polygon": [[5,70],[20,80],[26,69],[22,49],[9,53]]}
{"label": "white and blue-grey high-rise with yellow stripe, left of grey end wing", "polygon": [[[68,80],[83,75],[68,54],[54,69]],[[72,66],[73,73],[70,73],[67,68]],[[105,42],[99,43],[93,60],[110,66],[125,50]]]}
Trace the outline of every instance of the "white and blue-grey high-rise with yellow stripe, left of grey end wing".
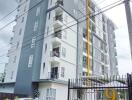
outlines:
{"label": "white and blue-grey high-rise with yellow stripe, left of grey end wing", "polygon": [[0,91],[34,97],[37,90],[40,100],[67,100],[69,78],[86,76],[88,70],[95,76],[111,74],[108,18],[100,14],[86,19],[88,9],[91,14],[100,10],[95,2],[88,9],[85,0],[17,2],[5,88]]}

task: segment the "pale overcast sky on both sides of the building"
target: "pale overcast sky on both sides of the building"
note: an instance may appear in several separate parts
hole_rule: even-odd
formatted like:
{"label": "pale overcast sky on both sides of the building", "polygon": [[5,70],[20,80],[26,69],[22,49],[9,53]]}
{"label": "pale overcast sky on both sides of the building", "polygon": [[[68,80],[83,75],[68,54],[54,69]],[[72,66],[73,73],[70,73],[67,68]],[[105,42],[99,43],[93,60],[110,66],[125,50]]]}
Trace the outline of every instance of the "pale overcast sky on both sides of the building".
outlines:
{"label": "pale overcast sky on both sides of the building", "polygon": [[[117,0],[95,0],[99,4],[100,8],[111,4]],[[0,19],[15,9],[17,4],[15,0],[0,0]],[[9,21],[14,20],[16,12],[10,15],[8,18],[0,21],[0,28],[7,24]],[[117,41],[117,53],[118,53],[118,68],[120,74],[126,74],[132,72],[132,61],[130,55],[129,38],[126,24],[126,16],[124,5],[116,7],[106,12],[106,15],[113,20],[117,25],[116,41]],[[13,36],[12,27],[15,23],[9,25],[4,30],[0,31],[0,73],[4,70],[5,62],[8,62],[6,53],[9,49],[9,40]],[[1,56],[2,55],[2,56]]]}

